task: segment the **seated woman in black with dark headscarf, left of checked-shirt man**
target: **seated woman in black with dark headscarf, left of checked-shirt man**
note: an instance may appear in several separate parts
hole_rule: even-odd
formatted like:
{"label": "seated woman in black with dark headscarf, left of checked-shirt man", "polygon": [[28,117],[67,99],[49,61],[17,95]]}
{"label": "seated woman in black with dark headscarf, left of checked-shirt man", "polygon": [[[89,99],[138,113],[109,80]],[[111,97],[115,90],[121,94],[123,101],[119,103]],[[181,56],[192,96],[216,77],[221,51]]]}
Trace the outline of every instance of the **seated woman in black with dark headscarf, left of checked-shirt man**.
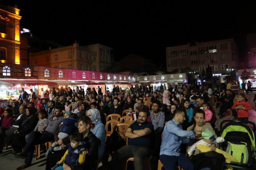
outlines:
{"label": "seated woman in black with dark headscarf, left of checked-shirt man", "polygon": [[24,146],[26,140],[25,136],[34,130],[38,122],[38,118],[35,115],[36,108],[28,107],[26,109],[26,118],[13,134],[8,136],[7,143],[11,144],[12,148],[16,152],[22,152],[22,146]]}

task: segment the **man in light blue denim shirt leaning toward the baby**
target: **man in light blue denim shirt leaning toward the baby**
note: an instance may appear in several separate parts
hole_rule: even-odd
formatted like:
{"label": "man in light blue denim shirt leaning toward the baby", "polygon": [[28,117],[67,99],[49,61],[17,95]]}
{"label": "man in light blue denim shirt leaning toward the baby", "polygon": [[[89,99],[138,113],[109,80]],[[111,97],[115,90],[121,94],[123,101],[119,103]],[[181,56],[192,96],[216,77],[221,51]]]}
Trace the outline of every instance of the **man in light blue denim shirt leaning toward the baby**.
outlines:
{"label": "man in light blue denim shirt leaning toward the baby", "polygon": [[180,125],[185,120],[185,113],[180,109],[174,111],[174,117],[164,127],[160,148],[160,160],[165,170],[175,170],[176,162],[184,170],[194,170],[194,165],[184,154],[180,153],[181,143],[189,143],[190,138],[198,135],[194,131],[182,130]]}

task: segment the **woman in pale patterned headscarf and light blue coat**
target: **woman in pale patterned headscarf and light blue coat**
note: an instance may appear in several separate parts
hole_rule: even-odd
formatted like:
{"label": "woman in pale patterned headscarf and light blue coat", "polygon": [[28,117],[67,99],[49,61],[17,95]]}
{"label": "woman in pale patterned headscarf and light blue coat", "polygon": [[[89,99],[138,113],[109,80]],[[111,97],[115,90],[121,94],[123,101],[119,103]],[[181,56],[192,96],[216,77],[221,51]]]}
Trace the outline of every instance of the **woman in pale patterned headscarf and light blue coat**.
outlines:
{"label": "woman in pale patterned headscarf and light blue coat", "polygon": [[91,132],[100,139],[99,157],[102,157],[105,150],[105,126],[100,120],[100,111],[98,109],[89,109],[86,115],[92,120]]}

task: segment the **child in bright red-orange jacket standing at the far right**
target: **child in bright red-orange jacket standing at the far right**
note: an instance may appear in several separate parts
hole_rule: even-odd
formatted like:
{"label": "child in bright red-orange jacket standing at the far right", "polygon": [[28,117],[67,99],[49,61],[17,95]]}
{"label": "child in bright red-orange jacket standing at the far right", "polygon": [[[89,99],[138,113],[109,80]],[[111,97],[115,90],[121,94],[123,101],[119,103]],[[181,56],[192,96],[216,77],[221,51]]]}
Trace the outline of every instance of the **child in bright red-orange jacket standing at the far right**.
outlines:
{"label": "child in bright red-orange jacket standing at the far right", "polygon": [[237,117],[238,120],[241,121],[248,121],[248,110],[253,109],[248,101],[245,101],[245,95],[244,94],[238,94],[238,101],[236,101],[232,109],[237,109]]}

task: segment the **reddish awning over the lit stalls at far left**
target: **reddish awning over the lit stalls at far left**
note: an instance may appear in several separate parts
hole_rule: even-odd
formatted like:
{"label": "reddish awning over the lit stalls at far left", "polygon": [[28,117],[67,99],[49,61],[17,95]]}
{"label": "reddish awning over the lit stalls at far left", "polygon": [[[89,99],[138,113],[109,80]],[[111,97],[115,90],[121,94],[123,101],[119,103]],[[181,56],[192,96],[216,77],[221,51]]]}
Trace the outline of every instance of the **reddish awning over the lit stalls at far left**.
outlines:
{"label": "reddish awning over the lit stalls at far left", "polygon": [[37,79],[0,79],[0,82],[8,83],[9,85],[20,85],[20,86],[34,86],[34,85],[57,85],[55,82],[48,82],[45,80]]}

